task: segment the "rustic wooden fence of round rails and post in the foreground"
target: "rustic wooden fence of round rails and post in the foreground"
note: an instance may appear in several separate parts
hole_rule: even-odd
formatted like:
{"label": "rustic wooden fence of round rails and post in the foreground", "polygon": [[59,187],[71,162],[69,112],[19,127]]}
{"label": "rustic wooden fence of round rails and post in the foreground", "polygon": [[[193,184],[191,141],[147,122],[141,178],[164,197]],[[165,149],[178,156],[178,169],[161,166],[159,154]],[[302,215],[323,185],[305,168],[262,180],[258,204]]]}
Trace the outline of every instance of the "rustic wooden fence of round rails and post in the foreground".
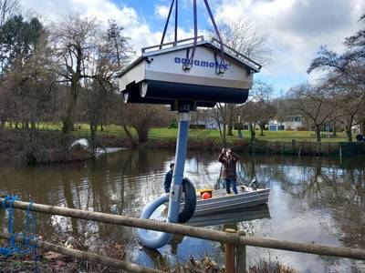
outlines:
{"label": "rustic wooden fence of round rails and post in the foreground", "polygon": [[[0,202],[2,201],[3,198],[0,198]],[[15,201],[13,204],[13,207],[23,210],[26,210],[28,206],[29,203],[21,201]],[[38,213],[46,213],[50,215],[57,215],[63,217],[73,217],[78,219],[91,220],[91,221],[97,221],[126,227],[139,227],[149,230],[156,230],[156,231],[189,236],[193,238],[202,238],[216,242],[222,242],[226,244],[228,246],[228,249],[231,249],[230,252],[231,253],[234,252],[235,255],[234,259],[235,267],[234,269],[230,268],[231,271],[227,270],[226,272],[228,273],[245,272],[246,246],[258,247],[258,248],[272,248],[272,249],[288,250],[288,251],[295,251],[308,254],[365,260],[365,250],[359,248],[330,247],[324,245],[297,243],[297,242],[268,239],[268,238],[249,238],[242,233],[210,230],[202,227],[190,227],[180,224],[165,223],[136,217],[110,215],[100,212],[84,211],[67,207],[53,207],[35,203],[32,204],[31,210]],[[8,238],[8,237],[9,235],[0,233],[0,238]],[[133,265],[125,261],[118,261],[115,259],[110,259],[95,254],[82,252],[79,250],[74,250],[69,248],[65,249],[63,247],[47,244],[45,242],[37,241],[37,246],[39,246],[40,248],[50,249],[54,252],[69,255],[72,257],[83,258],[89,261],[103,263],[110,267],[127,269],[132,272],[161,272],[159,270]]]}

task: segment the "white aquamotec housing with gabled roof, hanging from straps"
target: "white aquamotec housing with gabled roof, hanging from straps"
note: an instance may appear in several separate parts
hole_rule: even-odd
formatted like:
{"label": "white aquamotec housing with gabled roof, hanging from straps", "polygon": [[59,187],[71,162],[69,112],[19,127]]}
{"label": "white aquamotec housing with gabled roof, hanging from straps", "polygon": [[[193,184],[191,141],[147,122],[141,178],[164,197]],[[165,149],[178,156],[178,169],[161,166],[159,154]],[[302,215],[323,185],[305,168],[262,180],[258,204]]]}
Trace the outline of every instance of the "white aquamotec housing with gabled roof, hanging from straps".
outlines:
{"label": "white aquamotec housing with gabled roof, hanging from straps", "polygon": [[142,55],[117,74],[125,102],[171,106],[183,102],[193,107],[245,102],[260,65],[226,45],[222,62],[220,43],[204,41],[203,36],[193,59],[192,51],[192,39],[143,48]]}

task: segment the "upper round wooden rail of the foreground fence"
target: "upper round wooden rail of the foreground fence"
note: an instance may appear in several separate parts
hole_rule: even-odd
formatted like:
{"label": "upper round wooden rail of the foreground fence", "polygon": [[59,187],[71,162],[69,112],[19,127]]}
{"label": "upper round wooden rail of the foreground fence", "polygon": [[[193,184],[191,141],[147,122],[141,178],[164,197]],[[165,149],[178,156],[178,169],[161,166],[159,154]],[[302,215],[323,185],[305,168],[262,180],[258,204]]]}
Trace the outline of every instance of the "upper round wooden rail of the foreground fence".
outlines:
{"label": "upper round wooden rail of the foreground fence", "polygon": [[[0,202],[2,202],[3,200],[4,198],[0,198]],[[15,201],[13,203],[13,207],[23,210],[26,210],[28,206],[28,202]],[[32,204],[31,210],[39,213],[46,213],[63,217],[92,220],[126,227],[139,227],[149,230],[189,236],[193,238],[208,239],[216,242],[233,244],[235,246],[272,248],[308,254],[365,260],[365,250],[359,248],[329,247],[324,245],[296,243],[268,238],[248,238],[245,236],[240,236],[238,233],[227,233],[224,231],[210,230],[203,227],[190,227],[180,224],[160,222],[156,220],[110,215],[107,213],[84,211],[67,207],[54,207],[36,203]]]}

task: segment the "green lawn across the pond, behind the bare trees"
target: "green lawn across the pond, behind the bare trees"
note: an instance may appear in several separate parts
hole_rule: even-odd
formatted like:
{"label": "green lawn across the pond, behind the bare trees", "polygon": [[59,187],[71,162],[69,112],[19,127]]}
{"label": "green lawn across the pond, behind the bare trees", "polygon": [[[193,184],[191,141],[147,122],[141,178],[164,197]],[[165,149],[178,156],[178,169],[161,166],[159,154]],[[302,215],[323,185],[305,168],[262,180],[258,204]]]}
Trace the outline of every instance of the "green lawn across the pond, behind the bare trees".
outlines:
{"label": "green lawn across the pond, behind the bare trees", "polygon": [[[51,123],[42,123],[39,125],[39,129],[44,130],[61,130],[61,124],[51,124]],[[75,127],[77,130],[72,132],[75,136],[89,136],[89,125],[88,124],[76,124]],[[137,136],[136,131],[133,128],[130,128],[130,133],[132,136]],[[109,125],[104,127],[104,131],[101,132],[98,127],[99,135],[112,135],[112,136],[125,136],[124,131],[121,126]],[[338,137],[329,138],[328,135],[331,133],[322,133],[322,141],[323,142],[340,142],[347,141],[345,133],[338,133]],[[238,133],[234,131],[235,136],[228,136],[228,141],[237,139]],[[250,132],[248,130],[243,131],[244,139],[248,139],[250,137]],[[260,131],[256,131],[256,137],[259,140],[267,140],[267,141],[286,141],[291,142],[293,139],[296,141],[316,141],[315,132],[313,131],[264,131],[264,136],[259,136]],[[154,127],[150,130],[150,138],[157,139],[176,139],[177,136],[177,128],[167,128],[167,127]],[[215,129],[191,129],[189,131],[189,137],[191,139],[204,139],[204,138],[213,138],[220,139],[219,130]]]}

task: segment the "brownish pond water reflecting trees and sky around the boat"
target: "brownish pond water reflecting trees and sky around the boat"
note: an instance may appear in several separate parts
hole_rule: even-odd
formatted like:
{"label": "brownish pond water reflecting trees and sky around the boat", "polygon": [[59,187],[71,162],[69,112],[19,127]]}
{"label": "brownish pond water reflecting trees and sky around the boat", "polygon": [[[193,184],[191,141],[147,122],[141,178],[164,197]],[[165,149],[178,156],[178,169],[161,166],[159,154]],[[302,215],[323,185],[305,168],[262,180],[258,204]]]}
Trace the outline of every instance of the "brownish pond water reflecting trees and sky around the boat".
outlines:
{"label": "brownish pond water reflecting trees and sky around the boat", "polygon": [[[250,237],[276,238],[329,246],[365,248],[365,160],[320,157],[239,155],[241,183],[255,177],[271,188],[267,208],[257,213],[232,211],[235,227]],[[23,200],[139,217],[141,209],[163,193],[164,173],[172,150],[123,149],[95,161],[51,166],[0,167],[0,190]],[[185,176],[197,188],[214,187],[220,164],[210,151],[189,151]],[[66,217],[37,215],[37,234],[87,238],[91,245],[118,242],[128,248],[127,259],[154,266],[161,257],[175,261],[210,256],[222,262],[223,246],[196,238],[175,237],[159,251],[140,249],[135,229]],[[228,217],[228,216],[227,216]],[[229,222],[229,220],[228,220]],[[365,272],[365,263],[346,258],[248,248],[248,262],[276,259],[299,272]]]}

